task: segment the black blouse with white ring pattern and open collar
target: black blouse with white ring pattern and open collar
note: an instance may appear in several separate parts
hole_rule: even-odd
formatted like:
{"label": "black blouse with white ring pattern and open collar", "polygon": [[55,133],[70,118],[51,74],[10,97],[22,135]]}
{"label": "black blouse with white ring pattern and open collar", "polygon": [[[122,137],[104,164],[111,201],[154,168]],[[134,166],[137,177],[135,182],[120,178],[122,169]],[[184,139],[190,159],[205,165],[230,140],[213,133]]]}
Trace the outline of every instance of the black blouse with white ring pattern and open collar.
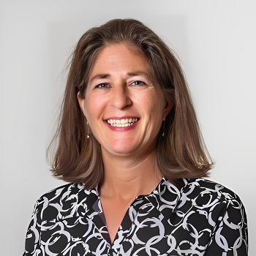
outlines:
{"label": "black blouse with white ring pattern and open collar", "polygon": [[[230,189],[203,178],[178,190],[163,178],[138,196],[113,244],[99,195],[66,184],[37,201],[24,255],[247,255],[244,206]],[[114,206],[113,206],[114,207]]]}

